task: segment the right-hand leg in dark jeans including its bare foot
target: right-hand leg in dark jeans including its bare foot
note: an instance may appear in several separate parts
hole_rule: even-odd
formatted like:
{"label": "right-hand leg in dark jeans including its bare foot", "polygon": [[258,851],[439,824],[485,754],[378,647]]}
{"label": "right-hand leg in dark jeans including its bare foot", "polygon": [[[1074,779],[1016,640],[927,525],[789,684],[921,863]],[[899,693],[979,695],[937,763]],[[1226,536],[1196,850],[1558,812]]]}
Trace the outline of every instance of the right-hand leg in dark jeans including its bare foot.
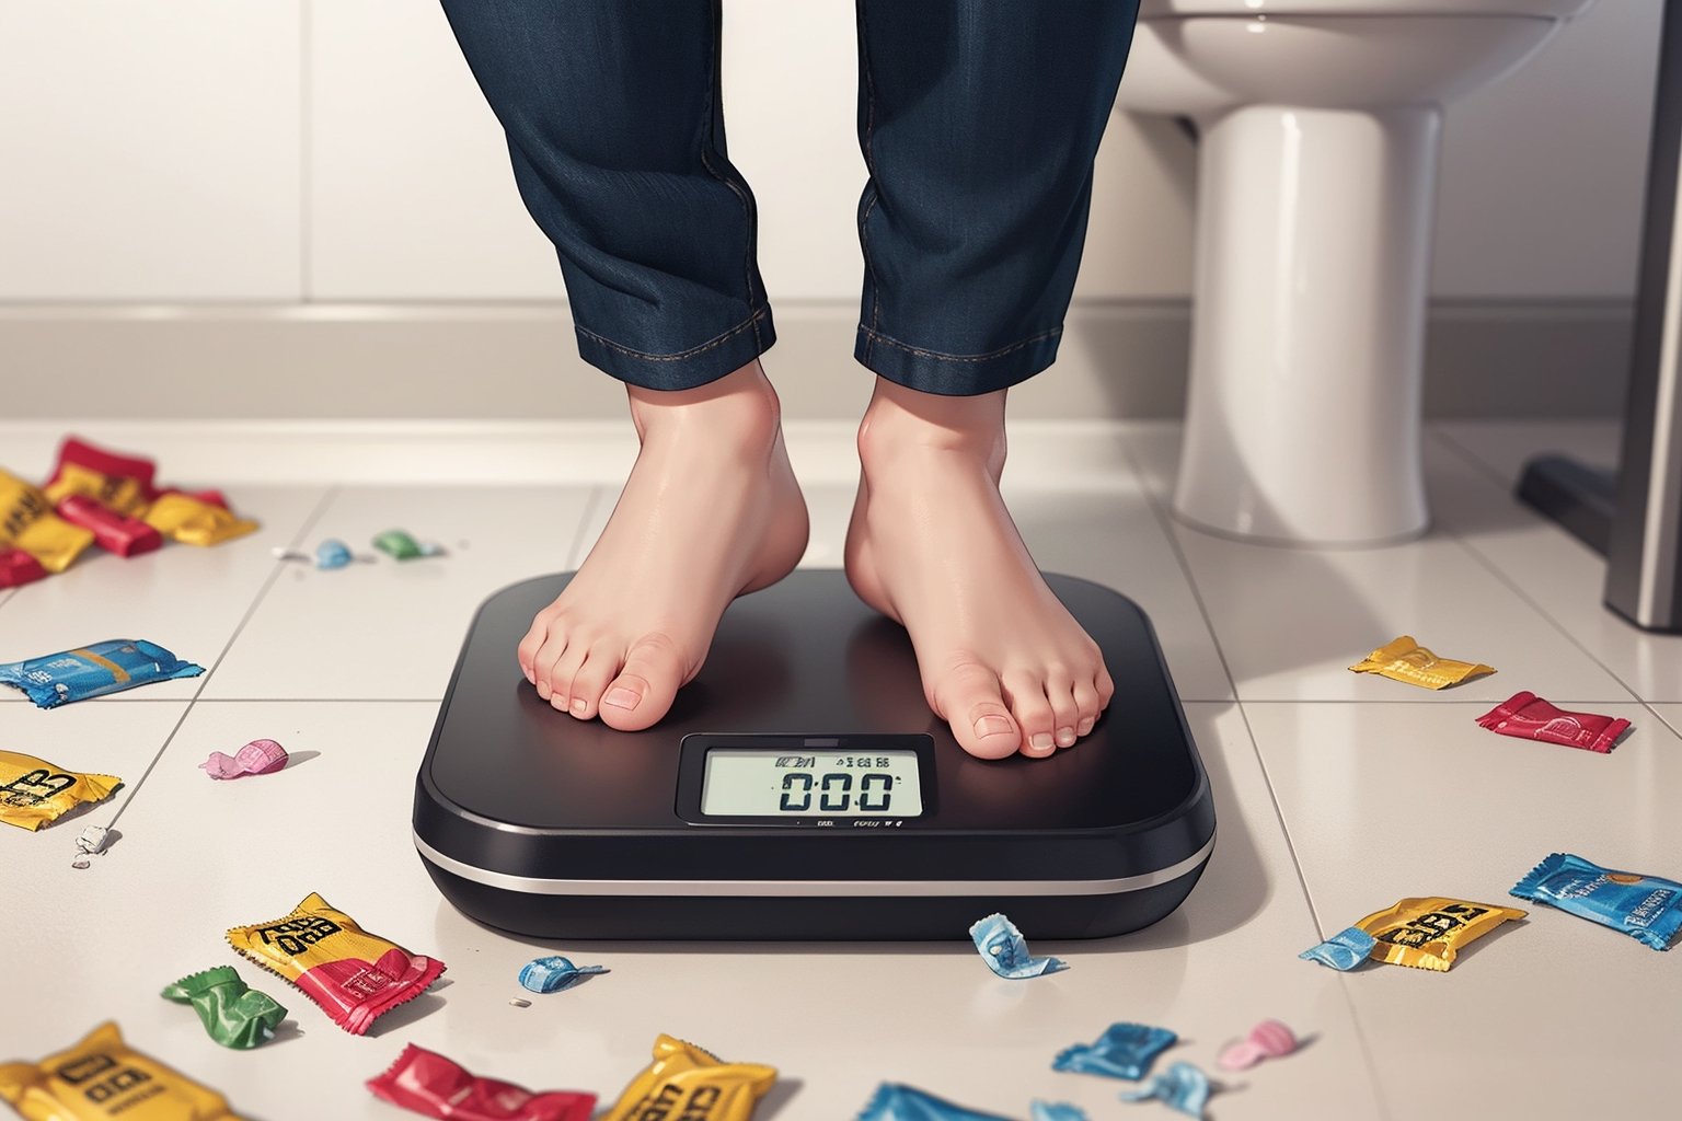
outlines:
{"label": "right-hand leg in dark jeans including its bare foot", "polygon": [[865,294],[878,375],[848,531],[971,753],[1053,755],[1113,682],[999,497],[1004,397],[1051,365],[1135,5],[860,0]]}

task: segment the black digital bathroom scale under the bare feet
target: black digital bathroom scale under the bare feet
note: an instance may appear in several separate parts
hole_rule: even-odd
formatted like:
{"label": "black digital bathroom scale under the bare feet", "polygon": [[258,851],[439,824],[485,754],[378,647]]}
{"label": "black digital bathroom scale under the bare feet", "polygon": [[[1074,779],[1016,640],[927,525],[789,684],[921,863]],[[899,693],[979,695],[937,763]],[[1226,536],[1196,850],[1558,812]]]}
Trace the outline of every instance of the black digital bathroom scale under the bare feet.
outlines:
{"label": "black digital bathroom scale under the bare feet", "polygon": [[1115,697],[1051,758],[977,760],[928,711],[905,630],[839,570],[725,612],[701,672],[639,733],[557,713],[515,647],[572,573],[479,607],[415,780],[444,896],[535,938],[1029,938],[1156,923],[1214,847],[1214,802],[1150,622],[1046,582]]}

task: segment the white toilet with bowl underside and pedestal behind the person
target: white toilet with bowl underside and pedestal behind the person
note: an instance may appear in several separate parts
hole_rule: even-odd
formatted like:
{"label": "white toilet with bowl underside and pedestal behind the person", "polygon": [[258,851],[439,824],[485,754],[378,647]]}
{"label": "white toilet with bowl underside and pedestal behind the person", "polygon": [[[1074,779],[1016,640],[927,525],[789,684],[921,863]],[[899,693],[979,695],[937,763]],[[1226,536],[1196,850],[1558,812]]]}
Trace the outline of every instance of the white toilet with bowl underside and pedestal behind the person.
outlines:
{"label": "white toilet with bowl underside and pedestal behind the person", "polygon": [[1317,545],[1425,529],[1440,106],[1591,2],[1142,0],[1119,104],[1201,136],[1182,519]]}

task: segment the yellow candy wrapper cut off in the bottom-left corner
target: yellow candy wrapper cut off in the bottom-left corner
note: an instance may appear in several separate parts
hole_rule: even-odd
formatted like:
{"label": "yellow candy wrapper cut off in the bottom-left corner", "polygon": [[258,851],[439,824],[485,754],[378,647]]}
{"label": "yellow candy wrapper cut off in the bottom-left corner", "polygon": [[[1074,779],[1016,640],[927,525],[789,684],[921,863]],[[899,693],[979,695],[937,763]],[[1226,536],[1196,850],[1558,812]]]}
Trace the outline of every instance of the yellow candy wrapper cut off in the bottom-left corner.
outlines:
{"label": "yellow candy wrapper cut off in the bottom-left corner", "polygon": [[40,1062],[0,1066],[0,1099],[27,1121],[242,1121],[222,1094],[131,1050],[116,1024]]}

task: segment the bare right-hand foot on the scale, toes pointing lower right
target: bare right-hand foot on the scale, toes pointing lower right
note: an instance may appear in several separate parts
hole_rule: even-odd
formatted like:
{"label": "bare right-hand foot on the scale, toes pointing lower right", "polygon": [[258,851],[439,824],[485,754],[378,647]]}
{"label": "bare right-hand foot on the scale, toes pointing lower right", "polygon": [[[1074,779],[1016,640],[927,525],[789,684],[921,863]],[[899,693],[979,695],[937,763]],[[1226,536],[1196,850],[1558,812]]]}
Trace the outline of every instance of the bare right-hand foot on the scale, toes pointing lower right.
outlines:
{"label": "bare right-hand foot on the scale, toes pointing lower right", "polygon": [[858,430],[846,573],[912,635],[928,708],[971,755],[1055,755],[1115,686],[1039,576],[999,497],[1004,392],[937,397],[883,378]]}

